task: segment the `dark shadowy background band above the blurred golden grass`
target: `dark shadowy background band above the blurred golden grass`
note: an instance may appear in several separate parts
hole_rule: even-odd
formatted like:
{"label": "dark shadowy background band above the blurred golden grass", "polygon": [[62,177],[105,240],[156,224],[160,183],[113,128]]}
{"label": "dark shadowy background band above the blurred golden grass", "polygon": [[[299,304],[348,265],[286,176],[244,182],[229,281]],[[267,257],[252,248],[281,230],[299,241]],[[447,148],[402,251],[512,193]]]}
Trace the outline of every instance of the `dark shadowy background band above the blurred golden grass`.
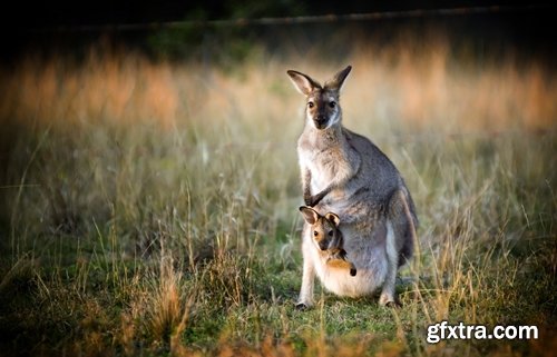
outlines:
{"label": "dark shadowy background band above the blurred golden grass", "polygon": [[[522,4],[515,10],[475,12],[473,7],[492,6],[489,1],[163,1],[156,4],[130,1],[65,2],[55,0],[25,3],[4,13],[1,31],[2,62],[17,62],[29,53],[69,54],[79,60],[91,46],[127,48],[153,59],[201,60],[219,62],[243,60],[254,44],[281,54],[285,44],[303,51],[307,46],[339,48],[346,52],[353,41],[370,40],[388,43],[400,33],[411,33],[423,41],[431,33],[446,34],[453,48],[472,49],[475,56],[507,54],[508,50],[526,57],[543,58],[548,63],[555,57],[555,7]],[[497,2],[496,2],[497,4]],[[372,21],[331,21],[301,24],[214,24],[214,20],[258,19],[393,12],[414,9],[432,10],[469,7],[465,14],[424,14],[378,19]],[[168,21],[185,21],[167,27]],[[193,22],[188,22],[193,21]],[[207,21],[207,22],[204,22]],[[159,23],[159,26],[157,26]],[[134,27],[126,27],[134,24]],[[352,43],[351,43],[352,42]],[[108,43],[108,44],[107,44]]]}

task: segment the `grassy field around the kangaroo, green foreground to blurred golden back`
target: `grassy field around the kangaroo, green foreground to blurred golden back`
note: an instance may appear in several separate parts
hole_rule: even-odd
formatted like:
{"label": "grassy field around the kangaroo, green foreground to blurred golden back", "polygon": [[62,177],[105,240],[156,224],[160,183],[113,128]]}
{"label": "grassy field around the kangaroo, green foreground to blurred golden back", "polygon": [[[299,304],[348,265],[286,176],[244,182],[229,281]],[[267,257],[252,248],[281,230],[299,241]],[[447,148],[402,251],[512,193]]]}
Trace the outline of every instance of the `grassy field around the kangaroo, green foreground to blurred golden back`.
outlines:
{"label": "grassy field around the kangaroo, green foreground to blurred golden back", "polygon": [[[419,211],[398,310],[319,288],[294,309],[291,65],[223,73],[91,51],[3,70],[0,354],[551,355],[555,75],[447,48],[354,51],[344,89],[345,125],[395,162]],[[319,79],[344,65],[291,63]],[[427,344],[443,319],[540,338]]]}

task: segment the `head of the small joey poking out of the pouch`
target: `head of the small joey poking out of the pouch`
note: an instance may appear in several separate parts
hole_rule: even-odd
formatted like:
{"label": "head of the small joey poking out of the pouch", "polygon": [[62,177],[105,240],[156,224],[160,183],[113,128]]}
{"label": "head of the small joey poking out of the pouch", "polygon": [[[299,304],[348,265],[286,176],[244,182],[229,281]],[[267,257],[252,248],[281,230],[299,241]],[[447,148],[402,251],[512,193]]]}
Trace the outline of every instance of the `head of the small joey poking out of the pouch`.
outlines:
{"label": "head of the small joey poking out of the pouch", "polygon": [[319,249],[328,250],[341,248],[342,236],[339,230],[339,216],[332,212],[321,216],[317,211],[307,206],[300,207],[300,211],[302,216],[304,216],[305,221],[312,226],[311,235]]}

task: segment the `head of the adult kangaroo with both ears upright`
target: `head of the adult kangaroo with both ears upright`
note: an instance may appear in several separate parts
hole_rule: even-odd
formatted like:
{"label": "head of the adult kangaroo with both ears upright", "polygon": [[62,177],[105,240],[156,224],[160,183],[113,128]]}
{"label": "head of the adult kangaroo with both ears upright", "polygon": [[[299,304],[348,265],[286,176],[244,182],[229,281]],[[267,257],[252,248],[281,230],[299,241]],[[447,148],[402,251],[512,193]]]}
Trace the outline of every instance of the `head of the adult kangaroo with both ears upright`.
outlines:
{"label": "head of the adult kangaroo with both ears upright", "polygon": [[305,116],[307,122],[312,123],[315,129],[328,129],[341,121],[340,90],[351,69],[351,66],[344,68],[324,86],[307,75],[287,71],[294,87],[306,98]]}

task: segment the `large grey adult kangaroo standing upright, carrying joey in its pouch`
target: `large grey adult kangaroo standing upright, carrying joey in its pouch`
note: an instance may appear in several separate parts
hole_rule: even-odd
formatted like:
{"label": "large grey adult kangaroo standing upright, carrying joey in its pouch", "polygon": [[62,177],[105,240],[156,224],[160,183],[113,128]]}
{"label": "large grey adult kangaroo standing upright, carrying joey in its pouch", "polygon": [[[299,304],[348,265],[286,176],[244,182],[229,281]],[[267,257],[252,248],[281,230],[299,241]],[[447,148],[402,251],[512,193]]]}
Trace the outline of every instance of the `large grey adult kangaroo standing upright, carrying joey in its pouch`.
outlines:
{"label": "large grey adult kangaroo standing upright, carrying joey in its pouch", "polygon": [[302,232],[303,275],[299,308],[313,305],[315,275],[340,296],[371,295],[380,287],[381,305],[397,305],[398,268],[411,258],[418,218],[410,192],[394,165],[368,138],[342,126],[340,90],[352,67],[321,86],[289,70],[305,96],[305,126],[297,140],[303,199],[316,211],[336,212],[344,249],[358,269],[346,279],[314,252],[311,225]]}

